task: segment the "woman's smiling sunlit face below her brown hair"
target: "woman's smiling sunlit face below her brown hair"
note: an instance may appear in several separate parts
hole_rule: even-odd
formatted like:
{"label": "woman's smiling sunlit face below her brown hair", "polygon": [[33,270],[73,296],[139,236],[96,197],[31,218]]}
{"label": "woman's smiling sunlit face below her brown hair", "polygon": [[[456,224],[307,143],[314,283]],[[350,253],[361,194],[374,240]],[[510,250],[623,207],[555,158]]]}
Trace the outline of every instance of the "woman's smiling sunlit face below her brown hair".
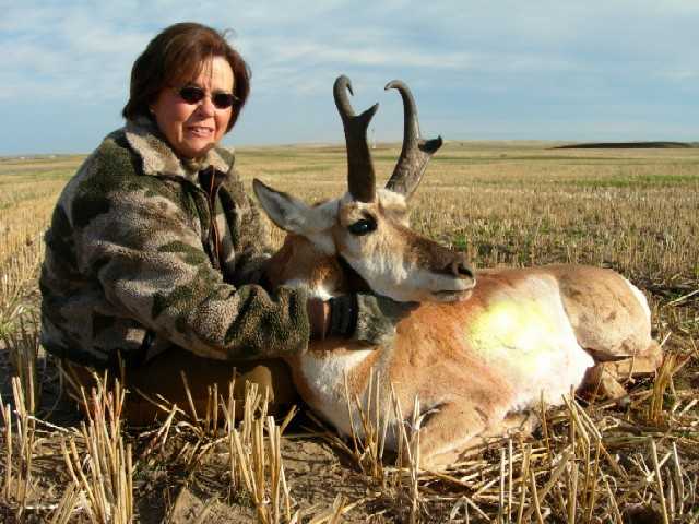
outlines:
{"label": "woman's smiling sunlit face below her brown hair", "polygon": [[151,111],[175,153],[186,158],[198,158],[221,141],[228,128],[233,109],[218,109],[213,105],[211,95],[232,93],[233,83],[230,64],[223,57],[213,57],[204,63],[199,76],[186,84],[204,91],[206,96],[200,102],[185,102],[178,93],[182,85],[161,91],[151,105]]}

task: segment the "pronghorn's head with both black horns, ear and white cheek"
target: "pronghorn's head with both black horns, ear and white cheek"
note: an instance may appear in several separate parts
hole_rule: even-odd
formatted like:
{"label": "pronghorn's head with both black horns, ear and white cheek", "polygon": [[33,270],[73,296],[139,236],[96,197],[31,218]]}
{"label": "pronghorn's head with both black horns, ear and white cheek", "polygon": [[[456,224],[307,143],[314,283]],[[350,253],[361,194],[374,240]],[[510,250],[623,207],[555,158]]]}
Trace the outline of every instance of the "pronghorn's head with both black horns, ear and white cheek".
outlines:
{"label": "pronghorn's head with both black horns, ear and white cheek", "polygon": [[[352,84],[346,76],[340,76],[333,93],[347,146],[347,193],[309,206],[254,180],[256,195],[272,222],[291,234],[283,250],[300,253],[301,250],[294,251],[288,246],[298,243],[300,236],[315,251],[315,260],[304,260],[308,259],[308,249],[305,257],[296,255],[297,260],[286,257],[286,266],[304,270],[319,258],[341,260],[371,290],[394,300],[464,300],[475,285],[465,255],[408,227],[407,202],[431,155],[441,146],[441,138],[420,139],[415,102],[403,82],[390,82],[386,88],[398,90],[403,98],[404,133],[401,156],[384,189],[376,188],[367,143],[369,121],[379,105],[355,115],[347,96],[347,92],[352,94]],[[310,274],[307,272],[305,276]]]}

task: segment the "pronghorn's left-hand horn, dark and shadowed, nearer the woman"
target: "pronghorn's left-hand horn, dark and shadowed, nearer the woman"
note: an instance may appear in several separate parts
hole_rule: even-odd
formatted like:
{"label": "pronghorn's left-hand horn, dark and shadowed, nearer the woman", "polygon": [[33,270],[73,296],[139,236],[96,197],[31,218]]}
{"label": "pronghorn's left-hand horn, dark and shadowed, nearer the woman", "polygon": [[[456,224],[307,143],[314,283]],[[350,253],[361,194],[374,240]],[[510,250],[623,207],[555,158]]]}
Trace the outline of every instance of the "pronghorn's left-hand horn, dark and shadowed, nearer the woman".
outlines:
{"label": "pronghorn's left-hand horn, dark and shadowed, nearer the woman", "polygon": [[375,104],[362,115],[355,115],[347,92],[354,94],[350,79],[345,75],[337,76],[333,86],[333,95],[345,130],[350,194],[359,202],[374,202],[376,199],[376,174],[367,143],[367,128],[379,105]]}

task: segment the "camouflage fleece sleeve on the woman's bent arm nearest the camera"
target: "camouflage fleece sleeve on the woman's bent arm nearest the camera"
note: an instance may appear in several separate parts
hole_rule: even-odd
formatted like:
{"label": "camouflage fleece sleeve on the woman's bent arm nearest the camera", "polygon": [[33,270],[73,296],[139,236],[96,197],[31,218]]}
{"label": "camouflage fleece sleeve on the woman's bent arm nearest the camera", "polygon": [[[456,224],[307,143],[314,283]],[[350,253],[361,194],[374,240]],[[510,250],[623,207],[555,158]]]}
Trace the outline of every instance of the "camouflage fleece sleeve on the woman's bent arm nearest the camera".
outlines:
{"label": "camouflage fleece sleeve on the woman's bent arm nearest the camera", "polygon": [[191,202],[178,201],[177,191],[154,177],[105,180],[81,184],[72,216],[78,264],[93,274],[116,314],[209,358],[306,349],[306,291],[270,295],[257,285],[224,283],[202,249]]}

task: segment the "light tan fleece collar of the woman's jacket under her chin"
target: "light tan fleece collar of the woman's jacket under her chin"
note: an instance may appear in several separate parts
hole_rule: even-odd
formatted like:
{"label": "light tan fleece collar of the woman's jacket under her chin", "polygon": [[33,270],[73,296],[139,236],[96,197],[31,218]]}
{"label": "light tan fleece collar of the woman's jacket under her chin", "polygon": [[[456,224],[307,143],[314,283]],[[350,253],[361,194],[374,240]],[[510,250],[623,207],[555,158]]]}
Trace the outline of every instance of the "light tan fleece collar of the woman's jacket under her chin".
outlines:
{"label": "light tan fleece collar of the woman's jacket under her chin", "polygon": [[196,180],[197,172],[209,166],[227,174],[233,165],[226,162],[215,147],[209,150],[201,159],[182,162],[157,127],[144,117],[128,120],[125,134],[131,148],[143,159],[145,175],[167,175]]}

